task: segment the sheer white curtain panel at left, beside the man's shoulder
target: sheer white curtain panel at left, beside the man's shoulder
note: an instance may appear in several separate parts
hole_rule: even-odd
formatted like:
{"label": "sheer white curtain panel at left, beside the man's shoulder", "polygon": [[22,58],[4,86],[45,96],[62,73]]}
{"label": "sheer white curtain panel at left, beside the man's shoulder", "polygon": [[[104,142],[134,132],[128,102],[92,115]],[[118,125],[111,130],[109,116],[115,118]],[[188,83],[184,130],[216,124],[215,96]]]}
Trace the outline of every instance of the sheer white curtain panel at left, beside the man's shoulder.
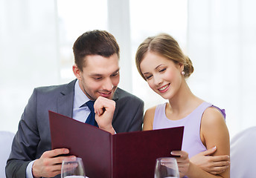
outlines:
{"label": "sheer white curtain panel at left, beside the man's shoulder", "polygon": [[55,1],[0,1],[0,130],[17,129],[33,88],[59,81]]}

